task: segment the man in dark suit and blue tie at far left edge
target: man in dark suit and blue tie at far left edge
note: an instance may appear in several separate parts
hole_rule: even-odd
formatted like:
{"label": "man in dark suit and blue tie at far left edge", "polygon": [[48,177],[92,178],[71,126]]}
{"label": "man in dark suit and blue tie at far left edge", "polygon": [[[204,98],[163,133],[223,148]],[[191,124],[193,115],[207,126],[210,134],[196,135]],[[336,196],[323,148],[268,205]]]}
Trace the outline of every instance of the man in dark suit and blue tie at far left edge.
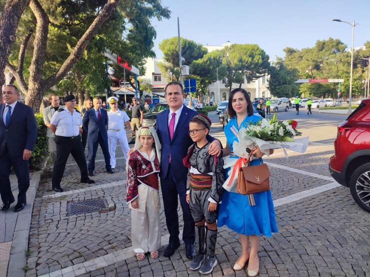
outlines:
{"label": "man in dark suit and blue tie at far left edge", "polygon": [[14,197],[10,188],[10,167],[13,166],[18,179],[18,201],[14,212],[26,205],[29,187],[29,162],[37,138],[37,125],[31,107],[18,100],[16,86],[7,85],[2,89],[3,104],[0,105],[0,211],[9,209]]}

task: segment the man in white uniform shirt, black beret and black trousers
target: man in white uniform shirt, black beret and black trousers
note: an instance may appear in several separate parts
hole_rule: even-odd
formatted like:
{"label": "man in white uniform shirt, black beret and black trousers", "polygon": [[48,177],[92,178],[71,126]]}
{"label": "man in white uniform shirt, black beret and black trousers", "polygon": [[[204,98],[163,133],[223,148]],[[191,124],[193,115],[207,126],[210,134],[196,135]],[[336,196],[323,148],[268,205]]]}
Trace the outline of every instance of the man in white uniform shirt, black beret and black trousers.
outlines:
{"label": "man in white uniform shirt, black beret and black trousers", "polygon": [[81,172],[81,183],[93,184],[88,178],[87,164],[83,153],[81,137],[82,116],[75,110],[76,100],[74,95],[64,98],[65,109],[58,109],[51,118],[50,128],[55,133],[56,160],[52,172],[51,186],[55,192],[62,192],[60,181],[69,153],[76,161]]}

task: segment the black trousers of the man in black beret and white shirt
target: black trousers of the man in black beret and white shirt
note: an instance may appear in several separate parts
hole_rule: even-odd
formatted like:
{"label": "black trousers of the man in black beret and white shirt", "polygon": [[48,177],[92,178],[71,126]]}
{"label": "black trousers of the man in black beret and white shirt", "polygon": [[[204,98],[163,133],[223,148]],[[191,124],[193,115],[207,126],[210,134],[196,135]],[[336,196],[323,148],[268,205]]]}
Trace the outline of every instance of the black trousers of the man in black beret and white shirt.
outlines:
{"label": "black trousers of the man in black beret and white shirt", "polygon": [[81,172],[81,181],[87,180],[87,164],[85,155],[82,149],[81,137],[62,137],[55,136],[56,143],[56,160],[54,163],[54,170],[52,171],[51,186],[53,188],[60,187],[60,181],[63,177],[65,164],[67,163],[69,153],[72,154],[73,159],[76,161],[79,171]]}

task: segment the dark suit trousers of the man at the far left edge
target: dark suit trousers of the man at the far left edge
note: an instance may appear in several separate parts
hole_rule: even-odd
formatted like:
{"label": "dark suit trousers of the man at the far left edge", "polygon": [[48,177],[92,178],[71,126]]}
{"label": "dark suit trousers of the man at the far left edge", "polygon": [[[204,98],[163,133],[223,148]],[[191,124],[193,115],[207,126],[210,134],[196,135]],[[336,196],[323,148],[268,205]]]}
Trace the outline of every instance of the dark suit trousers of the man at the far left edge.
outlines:
{"label": "dark suit trousers of the man at the far left edge", "polygon": [[23,156],[11,156],[5,144],[4,151],[0,155],[0,195],[2,203],[11,201],[13,198],[9,180],[11,166],[13,166],[18,179],[18,204],[26,203],[25,194],[29,187],[29,162],[23,160]]}

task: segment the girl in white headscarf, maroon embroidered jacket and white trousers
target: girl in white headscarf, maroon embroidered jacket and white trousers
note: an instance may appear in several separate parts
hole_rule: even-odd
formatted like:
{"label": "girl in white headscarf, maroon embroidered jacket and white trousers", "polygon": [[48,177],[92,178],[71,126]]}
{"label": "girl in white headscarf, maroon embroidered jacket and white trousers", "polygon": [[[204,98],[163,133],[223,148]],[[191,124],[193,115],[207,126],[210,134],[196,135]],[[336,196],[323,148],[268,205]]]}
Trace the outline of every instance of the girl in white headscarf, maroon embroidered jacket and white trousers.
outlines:
{"label": "girl in white headscarf, maroon embroidered jacket and white trousers", "polygon": [[131,209],[131,241],[136,259],[158,257],[160,247],[158,173],[160,143],[155,129],[141,127],[126,163],[127,197]]}

